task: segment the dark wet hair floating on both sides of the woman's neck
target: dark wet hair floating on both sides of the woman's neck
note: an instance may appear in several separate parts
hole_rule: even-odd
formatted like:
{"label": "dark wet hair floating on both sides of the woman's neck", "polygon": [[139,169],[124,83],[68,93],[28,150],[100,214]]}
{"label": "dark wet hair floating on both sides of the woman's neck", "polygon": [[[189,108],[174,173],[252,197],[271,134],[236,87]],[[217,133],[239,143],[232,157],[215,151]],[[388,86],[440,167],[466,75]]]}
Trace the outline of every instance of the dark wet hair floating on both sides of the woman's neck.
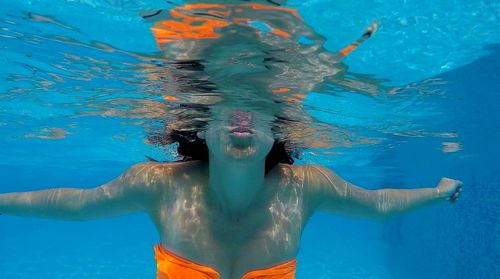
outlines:
{"label": "dark wet hair floating on both sides of the woman's neck", "polygon": [[[204,139],[199,138],[197,131],[169,130],[164,136],[151,135],[149,141],[154,144],[177,144],[177,153],[182,157],[177,162],[204,161],[208,162],[208,147]],[[292,165],[298,155],[287,142],[275,140],[266,156],[265,172],[271,171],[278,164]]]}

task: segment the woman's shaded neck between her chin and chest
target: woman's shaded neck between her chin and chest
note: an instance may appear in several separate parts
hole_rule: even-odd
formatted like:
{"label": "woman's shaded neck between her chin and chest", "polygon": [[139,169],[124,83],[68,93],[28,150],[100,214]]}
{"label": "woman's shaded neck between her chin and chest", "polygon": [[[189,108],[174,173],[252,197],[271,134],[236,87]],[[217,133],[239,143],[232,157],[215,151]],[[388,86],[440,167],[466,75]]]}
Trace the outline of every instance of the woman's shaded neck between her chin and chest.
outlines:
{"label": "woman's shaded neck between her chin and chest", "polygon": [[209,157],[209,187],[213,201],[224,214],[239,217],[246,213],[263,189],[265,161],[227,163]]}

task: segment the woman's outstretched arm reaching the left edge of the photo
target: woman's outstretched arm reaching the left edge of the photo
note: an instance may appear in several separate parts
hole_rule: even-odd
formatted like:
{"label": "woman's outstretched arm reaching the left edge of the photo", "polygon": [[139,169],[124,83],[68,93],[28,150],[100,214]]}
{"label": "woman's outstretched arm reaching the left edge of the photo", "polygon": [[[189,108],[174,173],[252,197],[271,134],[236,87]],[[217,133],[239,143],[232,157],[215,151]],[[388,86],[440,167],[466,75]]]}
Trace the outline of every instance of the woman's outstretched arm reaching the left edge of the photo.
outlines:
{"label": "woman's outstretched arm reaching the left edge of the photo", "polygon": [[[137,164],[94,189],[56,188],[0,194],[0,213],[62,220],[88,220],[148,211],[170,184],[170,167]],[[163,186],[163,187],[162,187]]]}

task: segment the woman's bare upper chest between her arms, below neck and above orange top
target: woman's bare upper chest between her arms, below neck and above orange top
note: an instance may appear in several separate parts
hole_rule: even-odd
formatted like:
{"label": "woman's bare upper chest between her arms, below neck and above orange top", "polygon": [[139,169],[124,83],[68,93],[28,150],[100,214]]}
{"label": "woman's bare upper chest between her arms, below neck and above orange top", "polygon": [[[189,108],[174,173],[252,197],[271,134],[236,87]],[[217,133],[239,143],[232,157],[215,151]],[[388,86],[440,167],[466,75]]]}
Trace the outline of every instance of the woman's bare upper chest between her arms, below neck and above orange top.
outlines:
{"label": "woman's bare upper chest between her arms, below neck and above orange top", "polygon": [[266,175],[265,190],[248,213],[228,218],[207,202],[203,164],[169,165],[175,168],[170,187],[150,212],[167,249],[215,268],[222,279],[241,278],[297,255],[312,212],[300,167],[277,166]]}

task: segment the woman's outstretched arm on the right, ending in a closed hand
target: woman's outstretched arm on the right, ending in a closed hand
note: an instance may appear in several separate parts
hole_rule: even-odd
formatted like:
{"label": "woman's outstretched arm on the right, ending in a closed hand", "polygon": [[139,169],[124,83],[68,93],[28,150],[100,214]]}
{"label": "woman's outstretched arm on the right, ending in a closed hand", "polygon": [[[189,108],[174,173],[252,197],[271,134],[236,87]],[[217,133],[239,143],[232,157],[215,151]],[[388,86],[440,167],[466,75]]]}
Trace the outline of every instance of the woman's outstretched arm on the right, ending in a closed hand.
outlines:
{"label": "woman's outstretched arm on the right, ending in a closed hand", "polygon": [[462,183],[449,178],[442,178],[434,188],[366,190],[324,167],[307,166],[307,174],[316,209],[374,220],[443,201],[455,202],[462,191]]}

